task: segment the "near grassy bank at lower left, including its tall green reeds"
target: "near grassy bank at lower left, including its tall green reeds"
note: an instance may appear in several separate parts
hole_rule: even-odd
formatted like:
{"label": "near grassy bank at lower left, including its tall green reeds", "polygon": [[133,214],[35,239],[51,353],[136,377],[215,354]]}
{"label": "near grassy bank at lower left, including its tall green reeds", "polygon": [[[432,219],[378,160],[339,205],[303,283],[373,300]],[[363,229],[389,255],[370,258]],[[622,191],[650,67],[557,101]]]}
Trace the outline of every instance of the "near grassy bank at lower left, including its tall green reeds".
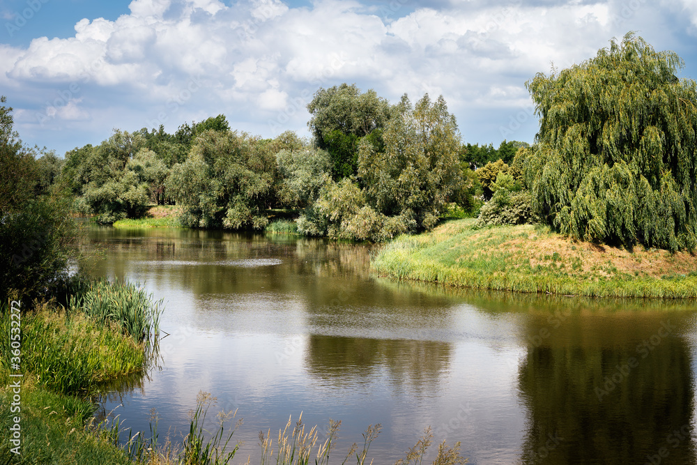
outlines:
{"label": "near grassy bank at lower left, including its tall green reeds", "polygon": [[132,284],[75,278],[68,288],[68,309],[0,305],[0,428],[21,428],[19,455],[0,436],[0,463],[132,463],[109,431],[89,426],[91,396],[146,367],[158,303]]}

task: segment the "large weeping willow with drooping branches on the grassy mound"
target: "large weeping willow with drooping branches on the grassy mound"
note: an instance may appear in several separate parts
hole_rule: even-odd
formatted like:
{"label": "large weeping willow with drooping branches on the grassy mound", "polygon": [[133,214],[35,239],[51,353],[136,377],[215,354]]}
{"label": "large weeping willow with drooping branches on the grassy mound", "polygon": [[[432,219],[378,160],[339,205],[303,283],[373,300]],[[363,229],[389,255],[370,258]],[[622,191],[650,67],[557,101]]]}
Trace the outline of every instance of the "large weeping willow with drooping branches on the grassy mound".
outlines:
{"label": "large weeping willow with drooping branches on the grassy mound", "polygon": [[540,128],[519,157],[542,218],[583,241],[694,250],[697,89],[683,66],[627,33],[526,82]]}

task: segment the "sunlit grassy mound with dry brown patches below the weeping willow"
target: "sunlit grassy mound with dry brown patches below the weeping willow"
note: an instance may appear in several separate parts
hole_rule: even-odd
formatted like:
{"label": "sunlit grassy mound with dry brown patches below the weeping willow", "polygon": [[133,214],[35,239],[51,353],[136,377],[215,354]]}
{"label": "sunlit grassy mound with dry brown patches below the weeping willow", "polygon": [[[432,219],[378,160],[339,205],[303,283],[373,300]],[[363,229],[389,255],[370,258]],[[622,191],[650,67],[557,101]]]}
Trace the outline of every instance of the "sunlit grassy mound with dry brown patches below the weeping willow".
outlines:
{"label": "sunlit grassy mound with dry brown patches below the weeping willow", "polygon": [[574,242],[548,227],[474,229],[455,220],[400,236],[372,262],[381,276],[457,287],[593,297],[696,298],[697,257]]}

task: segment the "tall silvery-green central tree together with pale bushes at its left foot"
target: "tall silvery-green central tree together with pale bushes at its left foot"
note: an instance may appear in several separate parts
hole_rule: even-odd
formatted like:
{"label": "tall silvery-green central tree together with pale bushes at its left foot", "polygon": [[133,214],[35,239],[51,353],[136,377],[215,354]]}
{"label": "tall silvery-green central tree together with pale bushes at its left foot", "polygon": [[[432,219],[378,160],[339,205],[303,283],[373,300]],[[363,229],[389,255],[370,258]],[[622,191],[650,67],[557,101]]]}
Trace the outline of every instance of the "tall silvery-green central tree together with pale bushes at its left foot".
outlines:
{"label": "tall silvery-green central tree together with pale bushes at its left foot", "polygon": [[385,241],[436,225],[462,185],[459,132],[443,97],[415,107],[404,96],[388,121],[383,144],[365,137],[358,181],[326,183],[298,222],[307,234]]}

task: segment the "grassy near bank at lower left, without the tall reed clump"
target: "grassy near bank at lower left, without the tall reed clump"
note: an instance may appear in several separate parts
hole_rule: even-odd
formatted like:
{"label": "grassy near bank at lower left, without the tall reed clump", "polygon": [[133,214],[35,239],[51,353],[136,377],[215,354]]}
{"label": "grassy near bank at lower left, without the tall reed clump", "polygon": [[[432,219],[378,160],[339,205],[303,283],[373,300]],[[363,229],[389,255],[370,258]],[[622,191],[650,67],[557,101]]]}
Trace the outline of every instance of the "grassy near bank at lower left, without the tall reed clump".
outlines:
{"label": "grassy near bank at lower left, without the tall reed clump", "polygon": [[145,343],[82,312],[0,310],[1,346],[10,346],[10,327],[16,346],[0,363],[0,428],[11,434],[0,437],[0,462],[132,463],[108,430],[91,425],[91,395],[98,383],[143,369]]}

